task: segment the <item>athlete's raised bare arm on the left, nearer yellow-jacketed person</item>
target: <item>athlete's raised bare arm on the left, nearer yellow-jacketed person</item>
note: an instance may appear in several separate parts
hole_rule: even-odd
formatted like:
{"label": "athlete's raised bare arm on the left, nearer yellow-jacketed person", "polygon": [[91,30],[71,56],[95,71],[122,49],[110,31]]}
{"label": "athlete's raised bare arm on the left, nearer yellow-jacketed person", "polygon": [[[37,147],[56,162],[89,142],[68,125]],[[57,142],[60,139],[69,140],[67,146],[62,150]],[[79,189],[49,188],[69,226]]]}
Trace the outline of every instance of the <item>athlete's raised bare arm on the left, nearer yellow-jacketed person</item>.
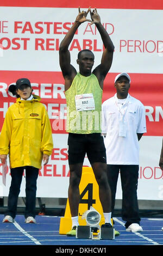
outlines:
{"label": "athlete's raised bare arm on the left, nearer yellow-jacketed person", "polygon": [[76,21],[73,23],[70,31],[68,31],[65,38],[61,41],[59,47],[59,63],[62,75],[65,79],[65,90],[70,88],[73,78],[77,74],[76,69],[71,65],[70,51],[68,50],[68,47],[70,46],[73,36],[76,33],[80,24],[82,24],[85,21],[91,21],[86,19],[86,16],[89,13],[89,11],[90,9],[81,12],[79,7],[79,14],[76,17]]}

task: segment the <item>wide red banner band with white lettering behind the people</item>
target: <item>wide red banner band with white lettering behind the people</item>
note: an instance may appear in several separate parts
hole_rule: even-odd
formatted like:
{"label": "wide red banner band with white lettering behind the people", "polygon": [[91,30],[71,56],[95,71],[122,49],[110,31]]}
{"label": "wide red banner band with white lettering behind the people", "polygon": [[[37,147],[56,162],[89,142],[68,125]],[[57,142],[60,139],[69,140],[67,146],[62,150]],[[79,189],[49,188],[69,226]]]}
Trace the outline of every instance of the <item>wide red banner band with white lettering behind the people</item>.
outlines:
{"label": "wide red banner band with white lettering behind the people", "polygon": [[[0,129],[5,113],[15,97],[8,94],[8,86],[18,78],[27,77],[32,83],[34,93],[41,97],[46,105],[53,133],[66,133],[66,99],[64,79],[61,72],[41,71],[1,71],[0,79]],[[117,74],[108,73],[104,81],[103,101],[115,93],[114,78]],[[129,93],[140,100],[146,108],[148,136],[162,136],[163,131],[163,75],[129,74],[131,85]]]}

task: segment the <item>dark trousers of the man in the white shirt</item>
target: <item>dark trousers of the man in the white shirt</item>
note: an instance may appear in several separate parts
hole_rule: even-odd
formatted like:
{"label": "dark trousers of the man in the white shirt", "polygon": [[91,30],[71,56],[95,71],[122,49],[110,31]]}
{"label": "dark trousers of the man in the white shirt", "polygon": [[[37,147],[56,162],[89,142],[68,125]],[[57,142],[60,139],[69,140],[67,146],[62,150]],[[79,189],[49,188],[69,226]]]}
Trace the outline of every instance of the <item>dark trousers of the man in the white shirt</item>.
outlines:
{"label": "dark trousers of the man in the white shirt", "polygon": [[122,186],[122,220],[126,221],[126,228],[131,223],[140,223],[139,206],[137,202],[138,165],[107,164],[108,181],[111,188],[112,215],[115,208],[118,174],[121,175]]}

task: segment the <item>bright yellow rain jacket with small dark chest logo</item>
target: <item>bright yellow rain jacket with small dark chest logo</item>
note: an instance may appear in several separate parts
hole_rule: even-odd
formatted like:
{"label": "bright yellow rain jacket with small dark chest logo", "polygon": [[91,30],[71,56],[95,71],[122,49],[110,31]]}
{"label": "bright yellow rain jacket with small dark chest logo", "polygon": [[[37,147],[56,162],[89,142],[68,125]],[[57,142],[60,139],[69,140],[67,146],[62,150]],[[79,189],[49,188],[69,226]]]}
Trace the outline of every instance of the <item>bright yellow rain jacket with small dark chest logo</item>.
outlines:
{"label": "bright yellow rain jacket with small dark chest logo", "polygon": [[0,155],[8,155],[10,168],[41,168],[43,154],[51,155],[52,129],[39,96],[21,100],[8,108],[0,135]]}

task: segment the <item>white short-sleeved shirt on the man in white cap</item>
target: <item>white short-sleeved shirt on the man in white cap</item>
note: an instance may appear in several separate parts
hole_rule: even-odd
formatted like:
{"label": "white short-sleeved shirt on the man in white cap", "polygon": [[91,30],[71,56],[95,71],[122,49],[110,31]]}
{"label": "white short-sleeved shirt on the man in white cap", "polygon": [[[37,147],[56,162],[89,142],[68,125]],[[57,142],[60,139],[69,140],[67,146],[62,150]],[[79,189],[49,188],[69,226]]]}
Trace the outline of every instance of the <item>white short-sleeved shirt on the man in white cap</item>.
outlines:
{"label": "white short-sleeved shirt on the man in white cap", "polygon": [[145,107],[128,94],[119,100],[117,94],[102,104],[102,132],[107,164],[139,164],[137,133],[145,133]]}

